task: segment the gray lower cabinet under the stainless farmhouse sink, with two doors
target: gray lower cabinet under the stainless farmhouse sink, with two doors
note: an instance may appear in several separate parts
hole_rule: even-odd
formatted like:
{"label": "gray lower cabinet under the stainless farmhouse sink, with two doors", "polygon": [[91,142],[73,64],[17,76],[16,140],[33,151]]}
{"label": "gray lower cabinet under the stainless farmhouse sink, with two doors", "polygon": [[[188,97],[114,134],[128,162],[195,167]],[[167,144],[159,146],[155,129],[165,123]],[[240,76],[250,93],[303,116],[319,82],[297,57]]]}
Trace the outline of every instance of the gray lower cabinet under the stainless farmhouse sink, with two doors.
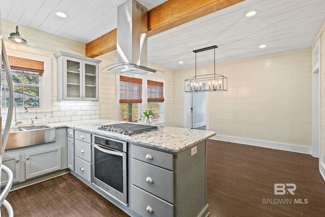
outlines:
{"label": "gray lower cabinet under the stainless farmhouse sink, with two doors", "polygon": [[[46,178],[46,174],[68,168],[67,128],[56,128],[56,141],[20,148],[6,149],[3,164],[11,169],[13,183],[24,186]],[[2,173],[1,185],[8,177]]]}

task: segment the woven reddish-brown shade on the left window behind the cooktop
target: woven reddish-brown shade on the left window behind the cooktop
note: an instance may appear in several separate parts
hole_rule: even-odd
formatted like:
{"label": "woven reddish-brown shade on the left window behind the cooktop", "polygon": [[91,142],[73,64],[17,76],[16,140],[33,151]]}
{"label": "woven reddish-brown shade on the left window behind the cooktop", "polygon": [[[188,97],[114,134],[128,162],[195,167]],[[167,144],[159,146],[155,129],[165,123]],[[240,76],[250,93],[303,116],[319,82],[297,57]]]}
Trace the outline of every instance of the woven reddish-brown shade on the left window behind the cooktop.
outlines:
{"label": "woven reddish-brown shade on the left window behind the cooktop", "polygon": [[120,76],[120,103],[142,103],[142,79]]}

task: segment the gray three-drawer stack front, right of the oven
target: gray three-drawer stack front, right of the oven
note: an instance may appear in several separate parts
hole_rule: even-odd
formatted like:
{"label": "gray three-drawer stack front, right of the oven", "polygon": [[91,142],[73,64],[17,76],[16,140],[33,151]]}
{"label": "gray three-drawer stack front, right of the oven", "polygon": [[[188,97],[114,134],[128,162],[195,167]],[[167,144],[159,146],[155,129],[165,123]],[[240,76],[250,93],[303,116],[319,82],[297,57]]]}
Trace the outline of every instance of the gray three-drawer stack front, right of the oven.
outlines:
{"label": "gray three-drawer stack front, right of the oven", "polygon": [[174,157],[131,145],[129,207],[141,216],[174,216]]}

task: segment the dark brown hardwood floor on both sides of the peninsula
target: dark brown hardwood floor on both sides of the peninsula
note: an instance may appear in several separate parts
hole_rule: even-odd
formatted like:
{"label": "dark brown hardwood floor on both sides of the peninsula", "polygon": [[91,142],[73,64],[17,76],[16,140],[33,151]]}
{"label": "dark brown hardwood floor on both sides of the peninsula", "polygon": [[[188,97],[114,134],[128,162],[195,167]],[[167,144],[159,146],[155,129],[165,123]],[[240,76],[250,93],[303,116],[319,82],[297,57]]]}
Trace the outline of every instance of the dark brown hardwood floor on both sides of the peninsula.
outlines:
{"label": "dark brown hardwood floor on both sides of the peninsula", "polygon": [[[309,154],[208,140],[207,183],[210,216],[325,216],[325,181]],[[274,195],[274,183],[296,184],[295,195]],[[15,216],[128,216],[70,173],[7,200]]]}

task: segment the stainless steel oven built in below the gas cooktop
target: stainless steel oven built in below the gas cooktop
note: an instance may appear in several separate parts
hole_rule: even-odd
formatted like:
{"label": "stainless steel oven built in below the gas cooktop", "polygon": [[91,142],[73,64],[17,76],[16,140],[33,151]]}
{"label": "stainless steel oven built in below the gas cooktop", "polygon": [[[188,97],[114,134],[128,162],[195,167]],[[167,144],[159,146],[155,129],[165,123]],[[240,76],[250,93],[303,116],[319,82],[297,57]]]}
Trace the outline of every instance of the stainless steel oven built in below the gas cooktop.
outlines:
{"label": "stainless steel oven built in below the gas cooktop", "polygon": [[127,143],[93,136],[93,183],[127,205]]}

